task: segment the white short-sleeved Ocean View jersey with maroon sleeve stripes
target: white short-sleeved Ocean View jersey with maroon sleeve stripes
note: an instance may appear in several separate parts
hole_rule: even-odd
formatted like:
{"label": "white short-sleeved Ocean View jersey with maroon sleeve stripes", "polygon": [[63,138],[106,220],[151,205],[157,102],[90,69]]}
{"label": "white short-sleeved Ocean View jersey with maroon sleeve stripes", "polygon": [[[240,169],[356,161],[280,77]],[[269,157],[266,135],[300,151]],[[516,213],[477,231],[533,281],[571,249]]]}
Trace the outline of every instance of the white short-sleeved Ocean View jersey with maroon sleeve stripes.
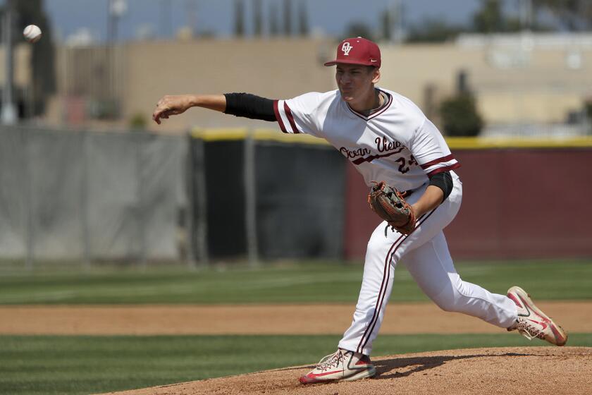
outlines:
{"label": "white short-sleeved Ocean View jersey with maroon sleeve stripes", "polygon": [[440,131],[407,97],[380,89],[388,102],[370,116],[352,110],[340,92],[310,92],[276,100],[276,119],[284,133],[324,138],[364,177],[388,181],[399,190],[419,188],[428,176],[460,166]]}

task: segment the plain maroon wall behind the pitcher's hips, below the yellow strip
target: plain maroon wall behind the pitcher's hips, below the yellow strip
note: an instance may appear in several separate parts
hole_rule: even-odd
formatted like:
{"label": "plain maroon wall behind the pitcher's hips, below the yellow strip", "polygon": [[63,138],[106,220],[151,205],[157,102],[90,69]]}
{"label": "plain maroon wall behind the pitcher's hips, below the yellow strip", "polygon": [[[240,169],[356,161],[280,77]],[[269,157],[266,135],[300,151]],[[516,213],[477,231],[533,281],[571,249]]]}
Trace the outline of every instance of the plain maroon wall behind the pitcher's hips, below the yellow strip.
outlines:
{"label": "plain maroon wall behind the pitcher's hips, below the yellow strip", "polygon": [[[460,213],[445,229],[453,257],[592,257],[592,150],[457,150]],[[345,256],[364,256],[378,217],[347,166]]]}

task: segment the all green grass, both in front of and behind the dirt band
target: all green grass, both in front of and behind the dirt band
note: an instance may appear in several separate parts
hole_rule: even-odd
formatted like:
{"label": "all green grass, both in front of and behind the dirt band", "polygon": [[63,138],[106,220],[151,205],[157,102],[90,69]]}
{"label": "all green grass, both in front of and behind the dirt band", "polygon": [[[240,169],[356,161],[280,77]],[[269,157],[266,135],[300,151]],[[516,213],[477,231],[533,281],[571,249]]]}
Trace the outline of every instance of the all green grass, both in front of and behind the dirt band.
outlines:
{"label": "all green grass, both in front of and behind the dirt band", "polygon": [[[537,300],[592,300],[592,261],[466,262],[466,281]],[[0,304],[353,302],[361,265],[312,262],[188,272],[115,267],[33,272],[0,266]],[[391,303],[426,300],[404,267]],[[345,328],[344,328],[345,329]],[[339,336],[0,336],[0,394],[91,394],[312,364]],[[570,334],[592,346],[592,334]],[[374,356],[493,346],[545,346],[517,334],[378,336]]]}

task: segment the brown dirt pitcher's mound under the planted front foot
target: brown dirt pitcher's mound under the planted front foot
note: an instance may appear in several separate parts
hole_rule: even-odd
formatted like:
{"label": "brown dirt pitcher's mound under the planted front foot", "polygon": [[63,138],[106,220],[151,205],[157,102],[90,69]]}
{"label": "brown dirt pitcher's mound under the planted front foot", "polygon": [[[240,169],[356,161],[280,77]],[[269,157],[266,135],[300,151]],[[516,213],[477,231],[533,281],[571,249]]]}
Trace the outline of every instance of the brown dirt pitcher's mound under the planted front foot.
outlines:
{"label": "brown dirt pitcher's mound under the planted front foot", "polygon": [[592,348],[471,348],[373,358],[377,375],[357,382],[302,385],[312,366],[288,367],[134,391],[172,394],[591,394]]}

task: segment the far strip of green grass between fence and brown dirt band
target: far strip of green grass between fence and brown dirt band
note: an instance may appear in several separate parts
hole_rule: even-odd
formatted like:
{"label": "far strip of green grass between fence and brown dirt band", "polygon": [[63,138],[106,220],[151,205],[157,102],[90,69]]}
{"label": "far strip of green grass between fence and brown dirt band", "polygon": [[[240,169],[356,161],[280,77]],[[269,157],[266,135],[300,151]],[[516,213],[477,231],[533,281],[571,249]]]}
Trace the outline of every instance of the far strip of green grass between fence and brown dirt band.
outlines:
{"label": "far strip of green grass between fence and brown dirt band", "polygon": [[[592,299],[592,261],[464,262],[465,281],[505,293],[512,285],[537,300]],[[354,302],[362,265],[327,262],[258,269],[95,267],[2,271],[0,304],[80,303],[335,303]],[[391,301],[427,298],[404,266],[397,267]]]}

